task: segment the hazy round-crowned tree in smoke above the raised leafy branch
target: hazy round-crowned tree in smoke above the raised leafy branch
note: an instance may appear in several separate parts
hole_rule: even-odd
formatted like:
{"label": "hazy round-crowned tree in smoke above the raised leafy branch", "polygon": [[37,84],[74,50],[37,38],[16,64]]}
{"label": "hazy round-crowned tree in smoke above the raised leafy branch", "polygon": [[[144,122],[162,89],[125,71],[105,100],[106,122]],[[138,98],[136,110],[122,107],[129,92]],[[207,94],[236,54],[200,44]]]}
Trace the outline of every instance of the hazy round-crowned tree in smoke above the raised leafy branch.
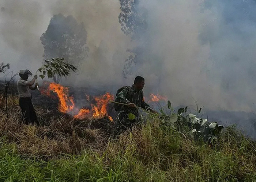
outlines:
{"label": "hazy round-crowned tree in smoke above the raised leafy branch", "polygon": [[45,59],[62,57],[67,63],[78,67],[89,51],[86,39],[87,32],[83,23],[78,24],[71,15],[54,15],[40,38],[44,46],[43,56]]}

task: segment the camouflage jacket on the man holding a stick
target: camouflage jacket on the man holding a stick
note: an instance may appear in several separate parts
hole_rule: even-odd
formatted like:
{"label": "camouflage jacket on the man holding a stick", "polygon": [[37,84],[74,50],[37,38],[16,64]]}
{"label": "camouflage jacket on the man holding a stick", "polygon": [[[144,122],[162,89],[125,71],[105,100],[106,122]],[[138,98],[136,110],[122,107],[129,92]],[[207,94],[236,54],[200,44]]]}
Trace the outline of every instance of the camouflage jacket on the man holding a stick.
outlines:
{"label": "camouflage jacket on the man holding a stick", "polygon": [[[125,86],[121,88],[121,91],[116,95],[116,102],[120,103],[134,103],[138,107],[142,107],[146,110],[152,109],[143,98],[143,91],[137,91],[133,86]],[[139,116],[138,108],[131,108],[128,106],[120,105],[119,112],[132,113],[136,117]]]}

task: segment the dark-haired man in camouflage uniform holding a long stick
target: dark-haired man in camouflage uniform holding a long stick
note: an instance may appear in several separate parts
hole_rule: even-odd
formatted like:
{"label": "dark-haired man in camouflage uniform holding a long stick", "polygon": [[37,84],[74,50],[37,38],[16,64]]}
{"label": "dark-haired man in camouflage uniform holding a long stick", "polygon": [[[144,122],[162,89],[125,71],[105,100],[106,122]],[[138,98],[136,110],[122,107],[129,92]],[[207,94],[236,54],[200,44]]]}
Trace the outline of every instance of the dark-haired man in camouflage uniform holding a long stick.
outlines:
{"label": "dark-haired man in camouflage uniform holding a long stick", "polygon": [[[140,122],[139,110],[137,107],[142,107],[147,111],[156,112],[144,102],[142,91],[144,84],[144,78],[136,76],[132,86],[125,86],[118,89],[115,101],[128,104],[128,106],[115,104],[115,109],[118,111],[116,122],[117,132],[131,128],[133,124]],[[134,116],[135,119],[132,119]]]}

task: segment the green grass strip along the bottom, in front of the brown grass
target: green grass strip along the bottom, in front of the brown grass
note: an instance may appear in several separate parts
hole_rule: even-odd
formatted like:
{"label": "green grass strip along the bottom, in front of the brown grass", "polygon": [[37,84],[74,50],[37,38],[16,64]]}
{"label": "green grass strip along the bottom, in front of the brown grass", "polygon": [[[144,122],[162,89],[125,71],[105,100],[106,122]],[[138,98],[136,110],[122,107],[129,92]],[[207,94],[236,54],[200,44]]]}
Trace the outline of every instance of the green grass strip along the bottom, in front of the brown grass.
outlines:
{"label": "green grass strip along the bottom, in front of the brown grass", "polygon": [[234,127],[213,147],[152,119],[103,151],[44,161],[0,142],[0,181],[256,181],[256,143]]}

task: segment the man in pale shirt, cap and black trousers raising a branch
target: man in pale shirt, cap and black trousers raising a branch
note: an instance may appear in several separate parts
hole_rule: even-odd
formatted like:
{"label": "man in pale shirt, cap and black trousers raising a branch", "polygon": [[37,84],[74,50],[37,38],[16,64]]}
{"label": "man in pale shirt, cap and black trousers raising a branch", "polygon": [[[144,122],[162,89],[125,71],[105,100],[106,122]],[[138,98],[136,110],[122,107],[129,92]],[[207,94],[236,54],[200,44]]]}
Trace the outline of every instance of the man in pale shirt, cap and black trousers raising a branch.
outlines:
{"label": "man in pale shirt, cap and black trousers raising a branch", "polygon": [[31,102],[31,94],[29,91],[29,89],[30,90],[37,89],[37,86],[38,86],[37,83],[33,87],[33,84],[37,79],[37,75],[35,75],[34,78],[28,82],[27,79],[29,78],[29,75],[32,75],[32,73],[29,70],[19,71],[20,79],[17,82],[17,87],[19,92],[19,106],[22,112],[22,122],[24,120],[25,124],[29,124],[29,123],[38,124],[37,115],[35,113],[35,109]]}

